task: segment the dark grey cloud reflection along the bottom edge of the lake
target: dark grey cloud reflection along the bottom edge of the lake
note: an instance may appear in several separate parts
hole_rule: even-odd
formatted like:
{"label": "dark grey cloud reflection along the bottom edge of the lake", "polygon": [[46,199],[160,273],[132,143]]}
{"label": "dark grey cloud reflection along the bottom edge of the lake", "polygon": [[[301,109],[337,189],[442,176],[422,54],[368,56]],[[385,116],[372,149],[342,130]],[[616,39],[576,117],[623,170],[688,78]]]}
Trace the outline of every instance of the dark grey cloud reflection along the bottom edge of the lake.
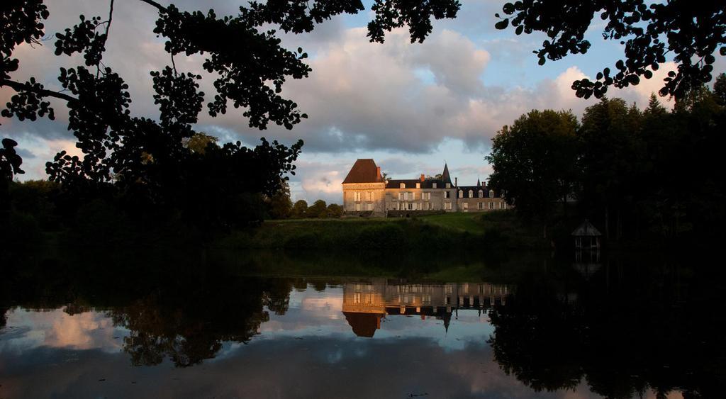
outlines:
{"label": "dark grey cloud reflection along the bottom edge of the lake", "polygon": [[253,340],[237,349],[185,369],[129,367],[125,355],[101,351],[86,351],[72,368],[52,367],[64,351],[37,349],[27,354],[35,361],[7,357],[11,372],[2,393],[12,398],[588,397],[579,388],[579,395],[534,392],[499,370],[486,346],[449,352],[431,340],[367,340],[348,334],[325,340]]}

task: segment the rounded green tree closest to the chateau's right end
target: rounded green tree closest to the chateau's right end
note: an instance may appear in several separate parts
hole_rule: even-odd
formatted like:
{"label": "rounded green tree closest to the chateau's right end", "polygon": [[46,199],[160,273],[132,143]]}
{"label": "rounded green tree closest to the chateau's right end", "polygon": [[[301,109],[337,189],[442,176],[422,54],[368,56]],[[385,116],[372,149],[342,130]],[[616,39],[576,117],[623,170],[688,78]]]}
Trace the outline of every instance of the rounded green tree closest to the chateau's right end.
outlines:
{"label": "rounded green tree closest to the chateau's right end", "polygon": [[566,202],[576,181],[577,127],[572,112],[533,110],[497,132],[486,157],[494,168],[489,184],[505,189],[526,218],[542,221],[545,237],[555,202]]}

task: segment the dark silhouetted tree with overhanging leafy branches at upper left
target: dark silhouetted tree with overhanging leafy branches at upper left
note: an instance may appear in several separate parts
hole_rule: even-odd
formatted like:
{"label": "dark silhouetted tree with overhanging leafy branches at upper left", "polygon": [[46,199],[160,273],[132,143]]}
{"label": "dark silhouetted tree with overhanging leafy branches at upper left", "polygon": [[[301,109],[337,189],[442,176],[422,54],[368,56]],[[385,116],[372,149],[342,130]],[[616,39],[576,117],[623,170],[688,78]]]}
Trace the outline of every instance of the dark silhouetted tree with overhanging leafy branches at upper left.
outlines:
{"label": "dark silhouetted tree with overhanging leafy branches at upper left", "polygon": [[[119,23],[114,21],[114,0],[109,2],[107,17],[80,15],[76,25],[55,34],[58,57],[80,53],[84,62],[60,68],[61,91],[46,89],[36,78],[27,82],[12,79],[12,72],[20,67],[13,57],[16,46],[24,42],[41,45],[43,21],[49,10],[42,0],[4,2],[0,7],[0,87],[13,89],[16,94],[1,115],[19,120],[54,119],[50,99],[65,102],[68,129],[76,136],[76,147],[83,155],[60,152],[46,164],[46,171],[52,181],[62,184],[67,205],[97,197],[124,197],[126,205],[135,204],[132,214],[139,209],[176,209],[188,221],[205,224],[257,221],[264,213],[262,198],[282,189],[287,173],[294,174],[293,162],[302,141],[291,147],[265,139],[253,149],[242,147],[240,142],[222,147],[203,142],[200,147],[197,141],[205,136],[195,131],[198,115],[206,108],[215,117],[232,104],[244,109],[242,115],[250,127],[265,129],[275,123],[293,128],[307,115],[280,93],[287,79],[308,76],[310,68],[303,62],[307,54],[300,48],[283,48],[276,30],[264,26],[309,32],[330,17],[359,12],[363,9],[361,1],[252,1],[240,7],[239,15],[224,17],[213,10],[186,12],[174,4],[165,7],[153,0],[139,1],[150,7],[150,12],[158,13],[150,28],[166,39],[169,54],[170,65],[150,71],[153,97],[160,111],[158,120],[131,115],[129,86],[103,63],[112,24]],[[372,32],[376,26],[390,29],[409,23],[412,38],[423,40],[431,31],[428,20],[453,17],[458,4],[386,2],[373,9],[379,17],[372,22]],[[372,37],[383,40],[382,34],[372,33]],[[194,54],[203,55],[204,69],[216,75],[215,92],[206,104],[205,94],[199,91],[202,77],[178,71],[174,62],[175,57]],[[234,207],[245,208],[238,209],[236,221],[223,214]]]}

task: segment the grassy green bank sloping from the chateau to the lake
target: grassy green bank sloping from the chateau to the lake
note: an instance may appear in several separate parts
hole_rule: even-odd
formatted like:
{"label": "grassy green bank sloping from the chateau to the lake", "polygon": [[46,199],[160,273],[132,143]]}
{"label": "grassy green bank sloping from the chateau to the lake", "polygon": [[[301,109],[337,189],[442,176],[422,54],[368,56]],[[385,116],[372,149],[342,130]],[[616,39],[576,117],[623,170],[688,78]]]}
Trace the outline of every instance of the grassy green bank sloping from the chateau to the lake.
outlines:
{"label": "grassy green bank sloping from the chateau to the lake", "polygon": [[446,213],[418,218],[298,219],[265,221],[234,231],[221,247],[259,249],[543,249],[550,246],[513,212]]}

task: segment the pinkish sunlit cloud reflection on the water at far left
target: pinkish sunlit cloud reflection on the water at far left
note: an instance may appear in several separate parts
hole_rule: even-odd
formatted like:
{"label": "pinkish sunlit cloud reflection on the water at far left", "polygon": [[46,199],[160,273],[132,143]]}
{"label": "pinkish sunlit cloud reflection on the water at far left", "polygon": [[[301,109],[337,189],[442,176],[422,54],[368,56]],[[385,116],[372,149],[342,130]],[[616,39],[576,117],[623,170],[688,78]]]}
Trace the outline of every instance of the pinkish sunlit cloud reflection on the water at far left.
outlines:
{"label": "pinkish sunlit cloud reflection on the water at far left", "polygon": [[4,337],[0,352],[34,347],[118,351],[127,334],[115,328],[105,313],[96,311],[69,315],[62,309],[15,309],[9,313],[7,325],[17,326],[17,331]]}

